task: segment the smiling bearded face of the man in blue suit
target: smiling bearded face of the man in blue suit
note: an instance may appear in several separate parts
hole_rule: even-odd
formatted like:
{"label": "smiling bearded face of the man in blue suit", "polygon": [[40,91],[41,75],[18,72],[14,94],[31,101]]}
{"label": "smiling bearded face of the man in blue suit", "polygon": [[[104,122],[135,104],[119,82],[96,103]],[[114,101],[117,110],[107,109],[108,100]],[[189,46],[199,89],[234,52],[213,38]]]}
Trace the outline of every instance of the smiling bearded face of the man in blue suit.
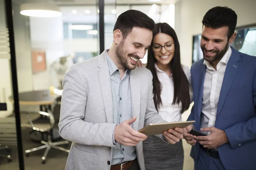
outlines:
{"label": "smiling bearded face of the man in blue suit", "polygon": [[203,26],[201,49],[206,61],[219,62],[221,60],[236,37],[236,33],[234,33],[228,40],[227,34],[227,26],[217,29]]}

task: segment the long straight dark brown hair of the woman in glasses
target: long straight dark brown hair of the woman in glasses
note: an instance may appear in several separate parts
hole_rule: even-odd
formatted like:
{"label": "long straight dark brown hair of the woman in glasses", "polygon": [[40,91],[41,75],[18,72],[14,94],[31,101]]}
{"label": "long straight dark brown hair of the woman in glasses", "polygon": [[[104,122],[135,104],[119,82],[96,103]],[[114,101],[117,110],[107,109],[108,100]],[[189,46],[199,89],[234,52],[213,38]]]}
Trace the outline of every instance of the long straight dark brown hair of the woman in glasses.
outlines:
{"label": "long straight dark brown hair of the woman in glasses", "polygon": [[[180,64],[180,44],[174,29],[167,23],[157,23],[153,29],[153,38],[158,33],[164,33],[171,36],[175,42],[175,52],[174,57],[171,62],[169,62],[169,67],[172,71],[172,78],[174,82],[174,96],[172,105],[181,102],[183,113],[189,108],[190,97],[189,97],[189,82]],[[151,42],[151,47],[153,45],[153,40]],[[153,74],[153,94],[154,94],[154,105],[158,111],[160,104],[162,104],[162,99],[160,97],[162,87],[160,81],[157,77],[157,71],[155,69],[155,63],[157,60],[154,57],[154,52],[152,48],[148,48],[148,62],[146,68],[148,68]]]}

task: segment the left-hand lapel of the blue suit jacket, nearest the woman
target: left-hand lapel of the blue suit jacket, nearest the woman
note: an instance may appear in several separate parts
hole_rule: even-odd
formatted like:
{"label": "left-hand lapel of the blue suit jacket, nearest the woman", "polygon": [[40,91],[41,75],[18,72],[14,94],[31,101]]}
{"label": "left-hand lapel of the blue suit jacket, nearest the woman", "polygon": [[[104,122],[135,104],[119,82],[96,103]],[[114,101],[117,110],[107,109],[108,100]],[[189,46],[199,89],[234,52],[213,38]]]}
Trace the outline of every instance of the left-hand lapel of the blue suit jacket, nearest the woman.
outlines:
{"label": "left-hand lapel of the blue suit jacket, nearest the woman", "polygon": [[[198,94],[198,116],[199,116],[199,118],[201,117],[201,111],[202,111],[205,72],[206,72],[206,65],[204,65],[202,62],[200,65],[200,68],[198,70],[198,73],[199,73],[198,82],[200,83],[198,86],[199,87],[199,89],[198,89],[198,92],[199,92],[199,94]],[[201,119],[199,119],[199,120],[201,120]]]}

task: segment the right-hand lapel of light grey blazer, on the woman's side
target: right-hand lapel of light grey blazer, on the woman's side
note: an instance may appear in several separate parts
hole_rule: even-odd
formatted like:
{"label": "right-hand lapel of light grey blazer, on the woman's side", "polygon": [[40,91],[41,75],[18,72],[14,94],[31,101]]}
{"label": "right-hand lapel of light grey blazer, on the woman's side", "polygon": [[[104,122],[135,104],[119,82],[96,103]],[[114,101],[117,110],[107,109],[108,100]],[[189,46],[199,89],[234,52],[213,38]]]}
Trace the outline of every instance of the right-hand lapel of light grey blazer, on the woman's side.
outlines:
{"label": "right-hand lapel of light grey blazer, on the woman's side", "polygon": [[140,75],[136,73],[136,69],[130,73],[130,84],[131,84],[131,108],[132,116],[136,116],[137,119],[133,123],[134,130],[138,130],[140,122]]}

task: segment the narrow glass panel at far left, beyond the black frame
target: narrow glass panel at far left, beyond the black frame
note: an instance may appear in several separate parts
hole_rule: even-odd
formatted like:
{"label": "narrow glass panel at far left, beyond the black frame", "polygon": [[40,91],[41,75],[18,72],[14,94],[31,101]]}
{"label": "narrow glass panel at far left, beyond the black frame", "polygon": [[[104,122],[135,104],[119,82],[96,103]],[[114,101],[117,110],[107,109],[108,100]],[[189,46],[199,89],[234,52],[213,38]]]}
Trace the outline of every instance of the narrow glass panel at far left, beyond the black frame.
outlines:
{"label": "narrow glass panel at far left, beyond the black frame", "polygon": [[0,0],[0,170],[19,170],[9,40],[5,2]]}

